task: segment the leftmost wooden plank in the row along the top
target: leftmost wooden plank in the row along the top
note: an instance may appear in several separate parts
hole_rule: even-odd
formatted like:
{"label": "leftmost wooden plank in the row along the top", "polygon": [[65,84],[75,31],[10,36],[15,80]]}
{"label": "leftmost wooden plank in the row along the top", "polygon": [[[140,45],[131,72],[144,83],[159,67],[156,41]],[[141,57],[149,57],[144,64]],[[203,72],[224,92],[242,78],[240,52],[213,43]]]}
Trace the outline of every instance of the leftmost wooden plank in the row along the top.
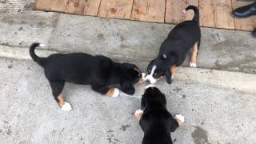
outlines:
{"label": "leftmost wooden plank in the row along the top", "polygon": [[68,0],[38,0],[35,9],[63,12],[66,9],[67,2]]}

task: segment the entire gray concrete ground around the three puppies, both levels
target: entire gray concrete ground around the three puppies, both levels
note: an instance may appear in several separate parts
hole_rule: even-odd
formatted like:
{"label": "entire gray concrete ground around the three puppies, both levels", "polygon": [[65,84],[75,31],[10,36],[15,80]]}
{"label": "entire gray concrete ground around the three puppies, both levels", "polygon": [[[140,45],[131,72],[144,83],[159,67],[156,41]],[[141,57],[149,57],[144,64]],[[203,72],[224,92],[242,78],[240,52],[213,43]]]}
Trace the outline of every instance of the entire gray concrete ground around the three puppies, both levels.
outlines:
{"label": "entire gray concrete ground around the three puppies, both levels", "polygon": [[[67,83],[64,94],[73,110],[64,112],[28,47],[42,42],[40,56],[103,54],[146,70],[173,27],[30,10],[0,16],[0,143],[141,143],[133,113],[144,84],[132,97],[106,98],[90,86]],[[168,110],[186,118],[172,134],[174,143],[256,143],[255,54],[250,32],[202,28],[200,68],[186,67],[186,60],[172,85],[156,84]]]}

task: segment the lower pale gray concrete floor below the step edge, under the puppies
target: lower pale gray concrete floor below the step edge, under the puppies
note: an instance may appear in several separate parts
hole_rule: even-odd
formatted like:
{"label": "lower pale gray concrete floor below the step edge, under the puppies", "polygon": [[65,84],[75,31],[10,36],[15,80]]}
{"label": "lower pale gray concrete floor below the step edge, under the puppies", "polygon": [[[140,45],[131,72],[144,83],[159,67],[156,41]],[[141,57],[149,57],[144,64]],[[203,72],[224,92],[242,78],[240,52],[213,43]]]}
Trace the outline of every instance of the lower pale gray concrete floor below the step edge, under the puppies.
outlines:
{"label": "lower pale gray concrete floor below the step edge, under the puppies", "polygon": [[[142,141],[133,114],[140,105],[138,98],[106,98],[89,86],[66,84],[63,93],[74,110],[64,112],[54,102],[42,68],[34,62],[0,58],[0,74],[0,143]],[[208,77],[210,73],[202,82]],[[166,94],[168,110],[186,118],[172,134],[174,143],[255,143],[255,94],[218,88],[198,78],[194,82],[177,77],[172,85],[157,84]]]}

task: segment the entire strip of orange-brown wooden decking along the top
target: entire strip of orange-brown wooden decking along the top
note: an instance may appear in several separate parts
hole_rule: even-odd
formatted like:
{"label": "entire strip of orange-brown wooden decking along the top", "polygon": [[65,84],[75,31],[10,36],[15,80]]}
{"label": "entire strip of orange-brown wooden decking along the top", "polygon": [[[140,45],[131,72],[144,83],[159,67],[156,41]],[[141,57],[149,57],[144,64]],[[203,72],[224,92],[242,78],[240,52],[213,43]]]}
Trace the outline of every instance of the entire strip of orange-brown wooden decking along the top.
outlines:
{"label": "entire strip of orange-brown wooden decking along the top", "polygon": [[34,9],[178,24],[194,17],[193,10],[182,13],[186,6],[194,5],[198,6],[201,26],[253,30],[255,16],[234,18],[230,14],[235,8],[250,3],[237,0],[38,0]]}

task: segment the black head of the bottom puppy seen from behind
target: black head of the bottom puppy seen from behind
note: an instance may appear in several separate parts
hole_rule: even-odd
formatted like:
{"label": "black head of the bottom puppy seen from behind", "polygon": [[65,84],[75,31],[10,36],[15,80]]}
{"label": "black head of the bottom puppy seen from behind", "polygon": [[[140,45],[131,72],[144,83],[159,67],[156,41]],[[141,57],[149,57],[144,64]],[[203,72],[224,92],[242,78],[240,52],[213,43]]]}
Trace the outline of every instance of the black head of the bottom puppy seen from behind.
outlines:
{"label": "black head of the bottom puppy seen from behind", "polygon": [[154,85],[146,86],[146,90],[142,95],[141,109],[143,110],[146,106],[156,103],[166,107],[165,94],[162,94]]}

